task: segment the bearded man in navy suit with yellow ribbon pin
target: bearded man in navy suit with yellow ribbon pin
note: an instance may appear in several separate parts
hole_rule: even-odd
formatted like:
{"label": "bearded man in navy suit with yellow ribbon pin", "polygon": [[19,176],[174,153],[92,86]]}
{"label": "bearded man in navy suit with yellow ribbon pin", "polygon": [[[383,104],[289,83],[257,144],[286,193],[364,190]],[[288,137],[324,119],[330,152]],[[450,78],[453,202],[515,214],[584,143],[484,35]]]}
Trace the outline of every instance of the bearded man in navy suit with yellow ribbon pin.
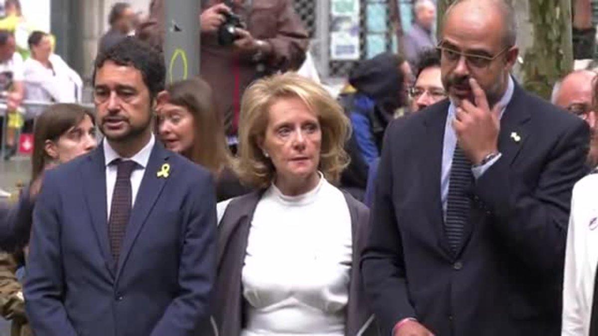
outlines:
{"label": "bearded man in navy suit with yellow ribbon pin", "polygon": [[33,213],[25,300],[36,335],[183,336],[209,325],[213,182],[152,134],[164,73],[161,55],[134,38],[97,57],[105,139],[45,174]]}

